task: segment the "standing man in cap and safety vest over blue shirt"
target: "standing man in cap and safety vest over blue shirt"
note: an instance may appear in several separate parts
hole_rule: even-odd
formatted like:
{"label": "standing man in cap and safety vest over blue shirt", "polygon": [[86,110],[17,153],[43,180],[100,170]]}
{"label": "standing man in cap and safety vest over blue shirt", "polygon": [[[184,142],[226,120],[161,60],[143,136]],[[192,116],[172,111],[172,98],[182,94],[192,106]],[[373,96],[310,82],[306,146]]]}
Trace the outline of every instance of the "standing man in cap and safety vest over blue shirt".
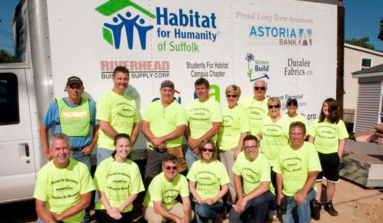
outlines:
{"label": "standing man in cap and safety vest over blue shirt", "polygon": [[[54,126],[55,133],[65,133],[70,137],[72,159],[84,163],[90,171],[90,154],[98,138],[96,105],[90,99],[81,96],[84,87],[79,77],[69,77],[65,91],[68,96],[55,99],[40,125],[40,140],[44,155],[47,159],[53,158],[49,153],[47,132]],[[89,218],[87,209],[84,222],[89,222]]]}

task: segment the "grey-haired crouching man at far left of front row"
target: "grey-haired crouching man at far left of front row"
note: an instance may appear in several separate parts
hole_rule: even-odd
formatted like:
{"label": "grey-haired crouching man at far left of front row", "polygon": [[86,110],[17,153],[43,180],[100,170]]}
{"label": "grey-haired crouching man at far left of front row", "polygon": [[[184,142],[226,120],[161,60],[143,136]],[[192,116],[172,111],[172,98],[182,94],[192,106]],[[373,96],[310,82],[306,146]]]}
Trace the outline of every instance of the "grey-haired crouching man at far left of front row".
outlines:
{"label": "grey-haired crouching man at far left of front row", "polygon": [[37,222],[83,222],[95,189],[88,167],[69,158],[68,135],[54,133],[49,144],[53,160],[38,172],[34,192]]}

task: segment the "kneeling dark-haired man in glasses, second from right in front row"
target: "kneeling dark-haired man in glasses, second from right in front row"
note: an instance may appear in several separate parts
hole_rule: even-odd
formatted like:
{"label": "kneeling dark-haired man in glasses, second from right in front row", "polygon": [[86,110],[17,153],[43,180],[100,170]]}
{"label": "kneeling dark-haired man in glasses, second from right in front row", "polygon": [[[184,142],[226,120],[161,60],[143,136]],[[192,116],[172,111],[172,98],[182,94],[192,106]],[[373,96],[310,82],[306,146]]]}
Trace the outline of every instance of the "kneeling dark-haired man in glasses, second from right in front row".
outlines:
{"label": "kneeling dark-haired man in glasses, second from right in front row", "polygon": [[254,135],[243,139],[243,148],[233,166],[238,200],[228,218],[230,223],[263,223],[267,219],[267,210],[274,207],[276,199],[269,161],[259,153],[258,140]]}

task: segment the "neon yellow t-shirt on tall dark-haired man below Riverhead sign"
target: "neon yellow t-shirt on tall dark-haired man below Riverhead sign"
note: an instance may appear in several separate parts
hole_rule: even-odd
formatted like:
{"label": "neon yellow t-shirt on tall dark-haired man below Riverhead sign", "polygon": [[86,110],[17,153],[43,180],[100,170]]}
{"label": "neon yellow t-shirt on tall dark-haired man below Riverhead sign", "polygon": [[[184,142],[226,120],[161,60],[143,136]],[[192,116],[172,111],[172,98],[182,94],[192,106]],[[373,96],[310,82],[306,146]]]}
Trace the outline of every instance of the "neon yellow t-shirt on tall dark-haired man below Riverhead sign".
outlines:
{"label": "neon yellow t-shirt on tall dark-haired man below Riverhead sign", "polygon": [[[140,121],[134,99],[128,95],[116,94],[111,90],[100,96],[96,109],[96,119],[109,122],[118,133],[131,135],[133,123]],[[114,139],[109,138],[100,129],[97,147],[114,150]]]}

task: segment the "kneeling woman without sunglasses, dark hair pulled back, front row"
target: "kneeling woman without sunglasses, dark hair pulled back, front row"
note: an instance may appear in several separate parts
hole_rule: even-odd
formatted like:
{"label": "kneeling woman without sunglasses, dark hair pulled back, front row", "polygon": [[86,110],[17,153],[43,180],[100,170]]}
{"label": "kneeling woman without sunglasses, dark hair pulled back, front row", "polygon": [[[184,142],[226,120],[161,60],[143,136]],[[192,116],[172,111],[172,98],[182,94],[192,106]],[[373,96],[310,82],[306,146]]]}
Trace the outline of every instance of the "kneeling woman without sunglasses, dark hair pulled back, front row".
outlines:
{"label": "kneeling woman without sunglasses, dark hair pulled back, front row", "polygon": [[97,166],[94,184],[98,191],[96,218],[99,223],[131,222],[133,200],[144,191],[140,169],[128,159],[131,138],[120,133],[114,137],[114,152]]}

